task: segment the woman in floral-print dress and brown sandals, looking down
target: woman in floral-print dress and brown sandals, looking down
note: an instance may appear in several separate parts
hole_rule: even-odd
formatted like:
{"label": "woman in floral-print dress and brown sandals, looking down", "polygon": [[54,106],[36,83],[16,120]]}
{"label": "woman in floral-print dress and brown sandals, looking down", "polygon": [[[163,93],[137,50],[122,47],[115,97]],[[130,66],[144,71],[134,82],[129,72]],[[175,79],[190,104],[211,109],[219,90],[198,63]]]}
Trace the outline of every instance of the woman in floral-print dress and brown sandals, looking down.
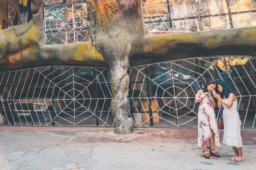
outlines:
{"label": "woman in floral-print dress and brown sandals, looking down", "polygon": [[[198,110],[198,147],[204,147],[203,153],[206,159],[213,157],[220,157],[218,152],[214,150],[214,143],[216,146],[220,145],[220,132],[214,112],[216,103],[211,96],[212,90],[216,88],[215,81],[207,83],[204,90],[198,90],[196,93],[195,103],[200,102]],[[207,141],[210,141],[210,154],[207,152]]]}

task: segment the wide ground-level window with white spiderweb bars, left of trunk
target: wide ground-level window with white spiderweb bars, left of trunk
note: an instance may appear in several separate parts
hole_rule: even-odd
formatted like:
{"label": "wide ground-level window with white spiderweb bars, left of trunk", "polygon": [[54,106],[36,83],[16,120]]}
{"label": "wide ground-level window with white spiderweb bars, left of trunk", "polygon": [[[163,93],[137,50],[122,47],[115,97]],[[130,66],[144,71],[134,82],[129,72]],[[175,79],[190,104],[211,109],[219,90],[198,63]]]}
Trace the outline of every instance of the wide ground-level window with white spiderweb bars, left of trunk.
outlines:
{"label": "wide ground-level window with white spiderweb bars, left of trunk", "polygon": [[49,66],[0,73],[3,125],[113,127],[109,69]]}

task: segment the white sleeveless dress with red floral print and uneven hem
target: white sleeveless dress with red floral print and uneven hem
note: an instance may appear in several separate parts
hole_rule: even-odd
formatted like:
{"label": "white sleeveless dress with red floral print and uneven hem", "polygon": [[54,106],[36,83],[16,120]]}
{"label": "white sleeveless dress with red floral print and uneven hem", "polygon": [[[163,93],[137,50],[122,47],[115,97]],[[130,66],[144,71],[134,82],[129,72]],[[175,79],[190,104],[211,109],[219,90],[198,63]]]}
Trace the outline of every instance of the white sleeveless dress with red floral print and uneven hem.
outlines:
{"label": "white sleeveless dress with red floral print and uneven hem", "polygon": [[[196,94],[196,99],[200,99],[201,96]],[[221,148],[220,144],[220,132],[218,130],[218,124],[212,107],[212,101],[208,96],[200,102],[198,109],[198,147],[201,148],[204,141],[207,141],[211,137],[211,129],[214,132],[215,145]]]}

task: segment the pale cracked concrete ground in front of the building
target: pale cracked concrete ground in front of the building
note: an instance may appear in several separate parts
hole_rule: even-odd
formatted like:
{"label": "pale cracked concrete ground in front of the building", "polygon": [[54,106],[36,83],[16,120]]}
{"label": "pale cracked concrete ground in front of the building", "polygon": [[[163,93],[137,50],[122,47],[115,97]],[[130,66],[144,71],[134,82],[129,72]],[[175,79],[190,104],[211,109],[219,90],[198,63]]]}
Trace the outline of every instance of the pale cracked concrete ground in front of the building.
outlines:
{"label": "pale cracked concrete ground in front of the building", "polygon": [[[256,169],[256,130],[243,130],[244,162],[205,159],[196,129],[0,127],[0,169]],[[222,131],[221,131],[222,134]]]}

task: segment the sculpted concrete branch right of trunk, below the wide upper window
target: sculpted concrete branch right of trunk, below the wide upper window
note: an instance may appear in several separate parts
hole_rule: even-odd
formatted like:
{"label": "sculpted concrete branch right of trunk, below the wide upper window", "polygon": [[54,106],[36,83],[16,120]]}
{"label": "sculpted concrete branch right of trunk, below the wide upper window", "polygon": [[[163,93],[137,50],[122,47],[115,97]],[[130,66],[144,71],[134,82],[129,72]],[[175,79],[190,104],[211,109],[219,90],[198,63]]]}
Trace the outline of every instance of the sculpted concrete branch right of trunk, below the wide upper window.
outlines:
{"label": "sculpted concrete branch right of trunk, below the wide upper window", "polygon": [[255,55],[255,39],[256,27],[145,37],[131,57],[131,66],[188,57]]}

